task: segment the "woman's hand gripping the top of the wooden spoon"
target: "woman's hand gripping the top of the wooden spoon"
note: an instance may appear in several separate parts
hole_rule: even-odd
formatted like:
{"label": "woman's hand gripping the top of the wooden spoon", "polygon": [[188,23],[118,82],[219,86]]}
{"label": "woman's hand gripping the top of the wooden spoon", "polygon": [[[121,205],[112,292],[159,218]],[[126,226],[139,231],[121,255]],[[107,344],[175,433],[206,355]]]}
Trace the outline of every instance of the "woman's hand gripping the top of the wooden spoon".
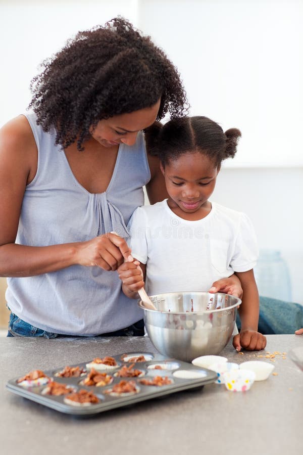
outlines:
{"label": "woman's hand gripping the top of the wooden spoon", "polygon": [[104,270],[117,270],[123,260],[132,261],[131,251],[122,237],[107,233],[87,242],[75,244],[76,263],[97,266]]}

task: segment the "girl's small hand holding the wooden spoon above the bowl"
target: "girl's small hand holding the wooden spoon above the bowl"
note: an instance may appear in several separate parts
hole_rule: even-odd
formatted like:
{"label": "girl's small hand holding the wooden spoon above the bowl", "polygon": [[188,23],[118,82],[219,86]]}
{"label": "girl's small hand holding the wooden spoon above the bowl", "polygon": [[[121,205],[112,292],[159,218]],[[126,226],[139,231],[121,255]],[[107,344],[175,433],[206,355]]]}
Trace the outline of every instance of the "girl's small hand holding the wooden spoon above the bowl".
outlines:
{"label": "girl's small hand holding the wooden spoon above the bowl", "polygon": [[137,291],[145,286],[140,262],[137,260],[124,262],[117,271],[124,294],[131,299],[138,298]]}

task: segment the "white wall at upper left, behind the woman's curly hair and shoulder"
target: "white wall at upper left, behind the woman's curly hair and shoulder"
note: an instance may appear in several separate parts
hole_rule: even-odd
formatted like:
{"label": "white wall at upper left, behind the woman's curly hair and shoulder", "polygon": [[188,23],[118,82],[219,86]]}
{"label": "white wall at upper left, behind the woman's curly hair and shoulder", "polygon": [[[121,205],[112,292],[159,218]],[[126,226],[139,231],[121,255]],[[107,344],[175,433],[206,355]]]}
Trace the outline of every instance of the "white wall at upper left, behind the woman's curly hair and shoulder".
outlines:
{"label": "white wall at upper left, behind the woman's curly hair and shoulder", "polygon": [[79,30],[118,14],[137,23],[135,0],[0,0],[0,126],[25,111],[42,61]]}

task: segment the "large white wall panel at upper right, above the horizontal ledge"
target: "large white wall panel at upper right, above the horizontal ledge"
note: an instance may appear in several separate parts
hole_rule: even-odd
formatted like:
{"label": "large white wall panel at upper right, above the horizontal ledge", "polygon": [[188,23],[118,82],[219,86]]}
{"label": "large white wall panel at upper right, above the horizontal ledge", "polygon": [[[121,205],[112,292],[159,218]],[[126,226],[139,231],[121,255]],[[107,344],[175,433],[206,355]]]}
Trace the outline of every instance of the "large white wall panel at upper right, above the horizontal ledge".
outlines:
{"label": "large white wall panel at upper right, above the horizontal ledge", "polygon": [[178,67],[191,114],[242,131],[228,166],[303,165],[302,0],[145,0],[139,24]]}

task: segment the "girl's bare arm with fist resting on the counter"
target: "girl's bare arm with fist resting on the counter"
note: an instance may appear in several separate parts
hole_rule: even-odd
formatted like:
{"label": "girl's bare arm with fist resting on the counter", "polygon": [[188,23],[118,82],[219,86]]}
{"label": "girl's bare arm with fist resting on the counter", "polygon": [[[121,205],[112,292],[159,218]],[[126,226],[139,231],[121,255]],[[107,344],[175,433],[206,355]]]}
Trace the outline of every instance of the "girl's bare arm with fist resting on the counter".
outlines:
{"label": "girl's bare arm with fist resting on the counter", "polygon": [[266,346],[266,338],[258,332],[259,293],[254,271],[235,272],[243,289],[242,303],[239,307],[241,330],[233,338],[233,346],[237,351],[241,347],[248,350],[261,350]]}

